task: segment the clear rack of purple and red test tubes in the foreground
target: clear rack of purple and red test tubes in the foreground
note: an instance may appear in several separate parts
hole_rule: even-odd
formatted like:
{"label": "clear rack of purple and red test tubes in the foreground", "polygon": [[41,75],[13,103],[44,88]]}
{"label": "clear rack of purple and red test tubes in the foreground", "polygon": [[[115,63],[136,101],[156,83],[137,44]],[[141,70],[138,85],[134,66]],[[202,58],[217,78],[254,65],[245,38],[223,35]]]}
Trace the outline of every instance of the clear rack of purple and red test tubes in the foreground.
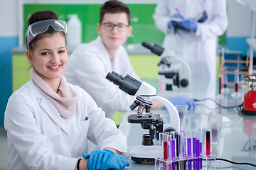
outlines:
{"label": "clear rack of purple and red test tubes in the foreground", "polygon": [[186,137],[184,123],[179,132],[159,133],[159,157],[155,159],[155,170],[215,169],[215,155],[210,154],[210,131],[206,131],[206,152],[202,152],[202,135],[203,129],[199,128],[188,130]]}

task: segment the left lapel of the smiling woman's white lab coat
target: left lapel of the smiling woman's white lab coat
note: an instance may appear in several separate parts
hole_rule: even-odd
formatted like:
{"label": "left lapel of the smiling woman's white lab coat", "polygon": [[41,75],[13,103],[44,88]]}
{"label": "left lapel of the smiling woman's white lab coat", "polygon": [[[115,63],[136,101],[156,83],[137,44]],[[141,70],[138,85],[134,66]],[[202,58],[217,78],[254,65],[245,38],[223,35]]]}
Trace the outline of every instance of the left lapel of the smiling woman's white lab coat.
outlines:
{"label": "left lapel of the smiling woman's white lab coat", "polygon": [[[57,123],[60,128],[65,130],[65,126],[63,123],[62,118],[60,117],[60,114],[57,111],[57,108],[51,103],[46,96],[43,96],[41,91],[36,87],[36,85],[33,83],[33,81],[28,81],[29,86],[31,87],[31,91],[33,91],[33,95],[36,96],[36,99],[38,101],[38,104],[43,108],[44,111],[52,118],[52,120]],[[66,131],[66,130],[65,130]]]}

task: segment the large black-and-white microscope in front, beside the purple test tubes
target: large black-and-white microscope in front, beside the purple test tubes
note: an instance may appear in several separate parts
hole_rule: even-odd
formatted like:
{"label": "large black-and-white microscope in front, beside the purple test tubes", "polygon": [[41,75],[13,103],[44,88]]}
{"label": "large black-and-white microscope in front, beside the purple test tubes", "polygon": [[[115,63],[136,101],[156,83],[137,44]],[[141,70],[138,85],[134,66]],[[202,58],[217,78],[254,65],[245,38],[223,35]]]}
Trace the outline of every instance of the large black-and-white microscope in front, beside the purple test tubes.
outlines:
{"label": "large black-and-white microscope in front, beside the purple test tubes", "polygon": [[[154,86],[145,81],[138,81],[128,74],[123,77],[117,72],[108,73],[107,80],[119,86],[125,93],[136,96],[136,100],[130,106],[131,110],[138,107],[137,114],[128,116],[128,123],[139,123],[142,129],[149,130],[149,134],[142,137],[142,145],[133,147],[130,151],[131,158],[138,164],[154,164],[154,159],[159,155],[159,145],[154,145],[154,138],[159,140],[159,132],[179,131],[180,118],[174,105],[166,98],[156,96]],[[169,123],[164,123],[159,114],[151,113],[152,101],[156,100],[164,104],[169,112]]]}

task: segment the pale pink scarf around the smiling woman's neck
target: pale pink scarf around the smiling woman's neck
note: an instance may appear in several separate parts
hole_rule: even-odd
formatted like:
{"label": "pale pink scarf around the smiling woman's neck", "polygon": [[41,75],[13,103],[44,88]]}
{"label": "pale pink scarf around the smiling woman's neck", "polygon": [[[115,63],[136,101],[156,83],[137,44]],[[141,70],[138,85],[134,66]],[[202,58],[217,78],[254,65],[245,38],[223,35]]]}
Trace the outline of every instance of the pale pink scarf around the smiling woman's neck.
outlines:
{"label": "pale pink scarf around the smiling woman's neck", "polygon": [[46,81],[37,74],[34,68],[31,69],[30,75],[38,89],[51,103],[53,103],[62,117],[70,118],[75,114],[76,103],[79,96],[70,86],[68,86],[63,75],[60,77],[60,86],[57,94],[50,88]]}

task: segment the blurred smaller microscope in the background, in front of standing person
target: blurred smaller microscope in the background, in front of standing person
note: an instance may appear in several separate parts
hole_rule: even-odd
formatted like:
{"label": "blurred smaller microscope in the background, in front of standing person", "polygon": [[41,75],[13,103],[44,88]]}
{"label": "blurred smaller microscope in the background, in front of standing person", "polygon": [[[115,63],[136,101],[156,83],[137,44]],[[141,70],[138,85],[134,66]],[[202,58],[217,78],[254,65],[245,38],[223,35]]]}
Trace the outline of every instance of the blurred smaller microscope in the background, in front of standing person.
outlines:
{"label": "blurred smaller microscope in the background, in front of standing person", "polygon": [[[163,88],[159,92],[159,96],[165,98],[186,96],[191,98],[191,69],[188,64],[179,57],[175,57],[175,53],[171,50],[154,44],[150,45],[148,42],[142,42],[142,46],[151,50],[152,53],[161,57],[159,64],[159,76],[161,78],[161,86]],[[183,67],[183,75],[180,75],[178,70],[171,69],[171,62],[177,61]]]}

